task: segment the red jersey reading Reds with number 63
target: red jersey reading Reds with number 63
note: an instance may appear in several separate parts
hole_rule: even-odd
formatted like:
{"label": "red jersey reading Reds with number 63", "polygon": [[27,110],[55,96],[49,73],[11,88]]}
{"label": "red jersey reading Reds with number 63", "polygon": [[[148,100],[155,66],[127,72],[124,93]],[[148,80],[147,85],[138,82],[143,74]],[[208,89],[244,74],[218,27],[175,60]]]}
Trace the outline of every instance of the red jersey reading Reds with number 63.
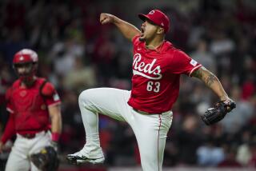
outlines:
{"label": "red jersey reading Reds with number 63", "polygon": [[147,113],[163,113],[172,108],[179,92],[181,74],[190,74],[202,65],[170,42],[156,50],[133,38],[134,60],[132,89],[128,104]]}

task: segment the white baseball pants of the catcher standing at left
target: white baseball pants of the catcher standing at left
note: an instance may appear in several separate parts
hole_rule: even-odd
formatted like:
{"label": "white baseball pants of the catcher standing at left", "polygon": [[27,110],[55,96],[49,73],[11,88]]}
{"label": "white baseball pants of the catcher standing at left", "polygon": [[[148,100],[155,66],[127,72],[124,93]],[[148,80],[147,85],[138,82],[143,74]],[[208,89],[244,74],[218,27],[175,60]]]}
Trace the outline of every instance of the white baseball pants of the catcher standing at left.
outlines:
{"label": "white baseball pants of the catcher standing at left", "polygon": [[35,137],[31,139],[17,134],[6,163],[6,171],[38,171],[39,169],[30,161],[30,155],[38,153],[47,145],[50,145],[49,131],[36,133]]}

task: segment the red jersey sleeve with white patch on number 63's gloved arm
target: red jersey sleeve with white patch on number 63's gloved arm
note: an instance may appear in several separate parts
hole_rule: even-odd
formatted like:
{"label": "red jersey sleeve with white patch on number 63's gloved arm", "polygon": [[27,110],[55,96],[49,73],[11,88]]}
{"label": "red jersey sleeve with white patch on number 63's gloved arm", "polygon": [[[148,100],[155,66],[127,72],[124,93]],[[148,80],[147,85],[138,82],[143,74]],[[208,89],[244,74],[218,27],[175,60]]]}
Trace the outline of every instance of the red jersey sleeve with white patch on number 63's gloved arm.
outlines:
{"label": "red jersey sleeve with white patch on number 63's gloved arm", "polygon": [[170,72],[173,74],[186,74],[190,76],[195,70],[202,65],[190,58],[182,50],[177,50],[170,64]]}

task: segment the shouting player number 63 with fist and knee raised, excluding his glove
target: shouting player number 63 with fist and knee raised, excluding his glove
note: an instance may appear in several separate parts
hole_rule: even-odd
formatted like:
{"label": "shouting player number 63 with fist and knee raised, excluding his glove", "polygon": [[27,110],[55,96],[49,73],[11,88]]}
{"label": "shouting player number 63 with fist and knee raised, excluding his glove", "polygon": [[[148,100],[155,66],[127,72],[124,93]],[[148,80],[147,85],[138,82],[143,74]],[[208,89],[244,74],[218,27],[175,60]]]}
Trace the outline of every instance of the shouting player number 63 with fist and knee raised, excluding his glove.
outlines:
{"label": "shouting player number 63 with fist and knee raised, excluding his glove", "polygon": [[218,78],[201,64],[165,40],[170,20],[160,10],[138,14],[141,30],[112,14],[101,14],[102,24],[112,23],[134,46],[131,91],[112,88],[87,89],[79,98],[86,144],[67,159],[74,164],[101,163],[104,155],[98,137],[98,113],[129,123],[138,141],[142,169],[162,170],[166,134],[173,119],[181,74],[199,78],[225,101],[228,97]]}

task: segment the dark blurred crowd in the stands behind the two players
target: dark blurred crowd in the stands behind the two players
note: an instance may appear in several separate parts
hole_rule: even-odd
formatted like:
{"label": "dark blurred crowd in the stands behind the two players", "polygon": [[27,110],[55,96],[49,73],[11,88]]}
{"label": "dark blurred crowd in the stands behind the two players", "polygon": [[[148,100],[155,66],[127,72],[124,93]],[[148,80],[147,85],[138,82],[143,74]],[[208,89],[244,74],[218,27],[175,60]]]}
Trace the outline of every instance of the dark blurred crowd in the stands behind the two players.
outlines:
{"label": "dark blurred crowd in the stands behind the two players", "polygon": [[[170,17],[166,39],[214,72],[237,102],[224,120],[206,126],[200,115],[218,97],[202,82],[182,77],[164,167],[256,169],[254,0],[1,0],[0,137],[8,119],[4,94],[16,79],[13,55],[31,48],[39,55],[38,75],[52,82],[62,98],[59,170],[135,170],[129,169],[140,165],[134,134],[129,125],[109,117],[100,116],[99,123],[104,165],[73,166],[65,156],[86,141],[78,94],[100,86],[130,89],[132,44],[114,26],[101,26],[99,14],[115,14],[140,28],[137,14],[153,9]],[[7,157],[8,152],[0,155],[0,170]]]}

